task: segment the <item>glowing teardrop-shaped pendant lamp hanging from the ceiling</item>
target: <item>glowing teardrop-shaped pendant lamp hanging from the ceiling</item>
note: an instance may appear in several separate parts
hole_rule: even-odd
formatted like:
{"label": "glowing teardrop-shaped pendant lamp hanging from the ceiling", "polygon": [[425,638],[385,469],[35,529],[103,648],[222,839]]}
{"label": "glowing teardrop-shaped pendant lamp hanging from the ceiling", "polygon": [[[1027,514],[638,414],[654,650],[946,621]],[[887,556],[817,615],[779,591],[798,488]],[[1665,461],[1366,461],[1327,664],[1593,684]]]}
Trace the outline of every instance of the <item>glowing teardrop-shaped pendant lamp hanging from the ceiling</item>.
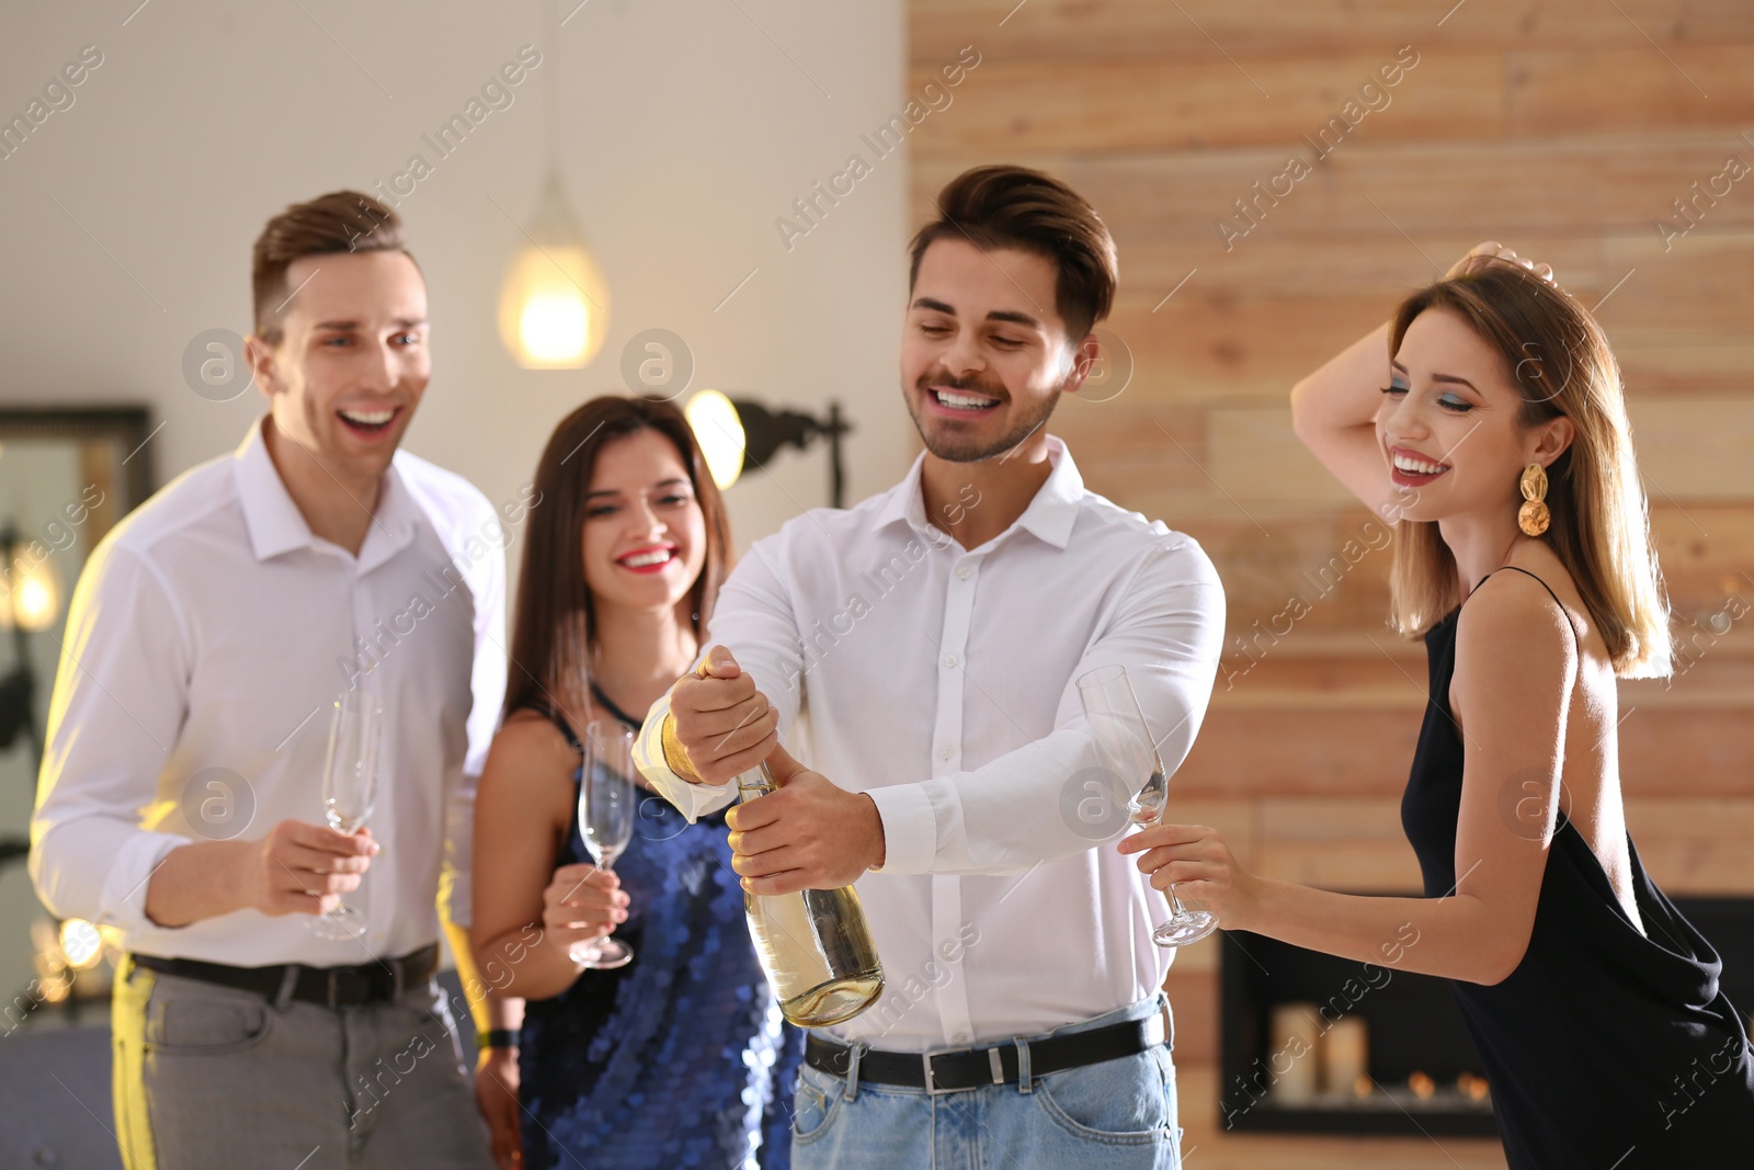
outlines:
{"label": "glowing teardrop-shaped pendant lamp hanging from the ceiling", "polygon": [[547,177],[524,242],[500,284],[500,340],[526,370],[579,370],[609,335],[609,284],[572,218],[560,177],[560,26],[544,0]]}

